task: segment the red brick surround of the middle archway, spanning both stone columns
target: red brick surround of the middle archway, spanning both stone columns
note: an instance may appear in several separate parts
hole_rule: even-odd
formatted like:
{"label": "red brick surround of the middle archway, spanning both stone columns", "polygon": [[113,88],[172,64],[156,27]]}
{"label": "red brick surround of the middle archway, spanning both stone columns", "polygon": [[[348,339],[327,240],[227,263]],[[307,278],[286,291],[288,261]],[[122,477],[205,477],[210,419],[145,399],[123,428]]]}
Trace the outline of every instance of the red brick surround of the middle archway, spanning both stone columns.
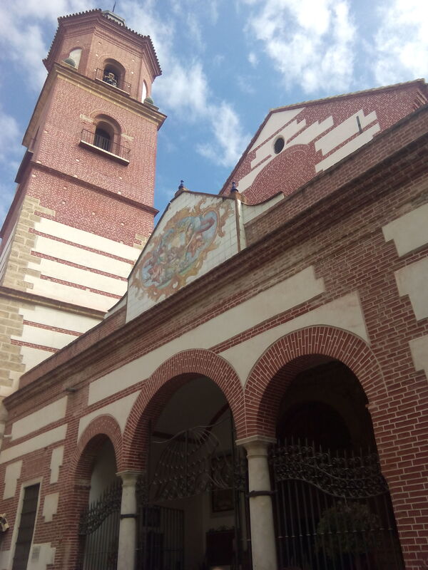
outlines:
{"label": "red brick surround of the middle archway, spanning both stone columns", "polygon": [[188,350],[159,366],[143,384],[123,433],[123,469],[141,470],[145,463],[148,422],[156,422],[164,405],[178,388],[193,378],[206,376],[225,395],[237,432],[244,423],[243,388],[230,364],[212,351]]}

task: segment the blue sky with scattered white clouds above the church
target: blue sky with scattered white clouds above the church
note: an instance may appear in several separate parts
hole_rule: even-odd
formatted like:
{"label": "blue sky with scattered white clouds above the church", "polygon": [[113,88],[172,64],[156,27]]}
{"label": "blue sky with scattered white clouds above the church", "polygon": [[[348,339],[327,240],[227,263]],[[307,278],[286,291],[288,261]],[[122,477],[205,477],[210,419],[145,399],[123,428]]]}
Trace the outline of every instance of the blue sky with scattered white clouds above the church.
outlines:
{"label": "blue sky with scattered white clouds above the church", "polygon": [[[14,0],[0,6],[0,223],[24,155],[21,140],[46,78],[56,18],[113,0]],[[153,99],[156,207],[180,179],[218,192],[270,108],[428,78],[426,0],[117,0],[151,36],[163,75]]]}

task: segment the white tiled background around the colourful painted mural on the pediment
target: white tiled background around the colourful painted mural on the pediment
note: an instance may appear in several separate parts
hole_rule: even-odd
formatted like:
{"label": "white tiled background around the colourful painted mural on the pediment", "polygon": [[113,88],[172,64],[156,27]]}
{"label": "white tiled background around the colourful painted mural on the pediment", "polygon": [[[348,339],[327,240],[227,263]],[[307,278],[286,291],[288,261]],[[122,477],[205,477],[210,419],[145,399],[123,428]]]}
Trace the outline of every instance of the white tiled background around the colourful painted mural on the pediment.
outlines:
{"label": "white tiled background around the colourful painted mural on the pediment", "polygon": [[[213,244],[215,244],[215,249],[206,252],[205,259],[202,266],[200,267],[198,274],[188,275],[185,284],[189,284],[195,279],[198,279],[201,275],[213,269],[213,267],[218,266],[223,263],[226,259],[229,259],[233,255],[238,253],[238,237],[236,233],[236,221],[235,221],[235,204],[231,199],[223,199],[222,197],[210,197],[201,196],[200,194],[195,194],[193,192],[182,192],[173,202],[171,202],[166,210],[163,218],[156,227],[155,232],[153,232],[151,239],[148,241],[146,248],[143,250],[142,257],[148,254],[152,249],[152,240],[154,237],[162,235],[166,225],[170,219],[182,209],[189,209],[190,214],[194,211],[197,204],[202,204],[202,209],[213,206],[220,206],[220,214],[228,212],[228,217],[225,219],[223,225],[222,236],[215,237]],[[130,276],[130,283],[132,284],[134,274],[138,274],[139,271],[138,260],[135,268],[133,269]],[[165,299],[165,294],[162,294],[157,300],[151,299],[151,297],[146,294],[145,291],[141,291],[136,286],[130,285],[128,288],[128,303],[127,303],[127,314],[126,320],[130,321],[139,314],[146,311],[154,304]]]}

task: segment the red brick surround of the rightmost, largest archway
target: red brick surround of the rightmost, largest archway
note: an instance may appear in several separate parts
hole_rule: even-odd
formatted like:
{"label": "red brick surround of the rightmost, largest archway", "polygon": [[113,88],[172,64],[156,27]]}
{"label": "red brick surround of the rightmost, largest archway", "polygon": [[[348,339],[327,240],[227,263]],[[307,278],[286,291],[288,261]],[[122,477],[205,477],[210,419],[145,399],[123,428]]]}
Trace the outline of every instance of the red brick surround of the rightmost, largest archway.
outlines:
{"label": "red brick surround of the rightmost, largest archway", "polygon": [[357,376],[370,402],[375,429],[378,410],[374,403],[387,395],[387,390],[372,349],[360,337],[340,328],[311,326],[280,338],[253,366],[244,391],[247,437],[275,437],[278,410],[287,386],[297,373],[315,366],[322,356],[341,361]]}

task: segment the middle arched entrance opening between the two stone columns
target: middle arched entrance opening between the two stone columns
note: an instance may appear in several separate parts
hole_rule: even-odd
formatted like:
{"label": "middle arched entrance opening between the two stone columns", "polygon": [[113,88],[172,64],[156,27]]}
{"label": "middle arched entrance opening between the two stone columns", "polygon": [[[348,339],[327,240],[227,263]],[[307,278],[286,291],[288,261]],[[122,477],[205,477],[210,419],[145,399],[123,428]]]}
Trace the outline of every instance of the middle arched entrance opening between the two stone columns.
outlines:
{"label": "middle arched entrance opening between the two stone columns", "polygon": [[179,388],[150,428],[138,486],[138,570],[250,567],[245,458],[209,378]]}

